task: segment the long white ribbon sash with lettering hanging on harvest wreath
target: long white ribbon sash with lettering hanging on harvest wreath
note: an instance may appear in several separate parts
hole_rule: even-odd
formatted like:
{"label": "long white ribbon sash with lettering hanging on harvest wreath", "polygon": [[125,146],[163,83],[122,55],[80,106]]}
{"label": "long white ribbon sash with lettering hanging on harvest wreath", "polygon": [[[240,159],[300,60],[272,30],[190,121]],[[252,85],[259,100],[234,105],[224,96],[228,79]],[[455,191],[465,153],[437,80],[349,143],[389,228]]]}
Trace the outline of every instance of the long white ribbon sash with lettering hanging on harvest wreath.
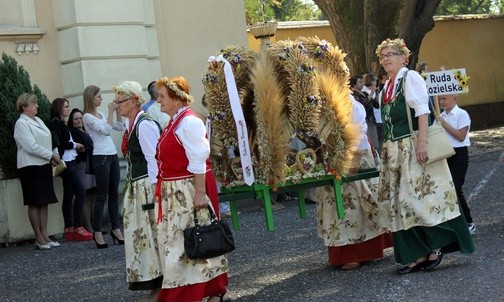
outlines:
{"label": "long white ribbon sash with lettering hanging on harvest wreath", "polygon": [[228,60],[224,59],[222,55],[217,57],[211,56],[208,62],[224,62],[224,76],[226,78],[226,86],[229,95],[229,103],[231,104],[231,111],[236,124],[236,134],[238,136],[238,148],[240,149],[240,160],[242,164],[243,180],[247,185],[254,183],[254,169],[252,167],[252,158],[250,156],[250,146],[248,143],[247,124],[240,104],[240,97],[238,96],[238,89],[234,79],[233,69]]}

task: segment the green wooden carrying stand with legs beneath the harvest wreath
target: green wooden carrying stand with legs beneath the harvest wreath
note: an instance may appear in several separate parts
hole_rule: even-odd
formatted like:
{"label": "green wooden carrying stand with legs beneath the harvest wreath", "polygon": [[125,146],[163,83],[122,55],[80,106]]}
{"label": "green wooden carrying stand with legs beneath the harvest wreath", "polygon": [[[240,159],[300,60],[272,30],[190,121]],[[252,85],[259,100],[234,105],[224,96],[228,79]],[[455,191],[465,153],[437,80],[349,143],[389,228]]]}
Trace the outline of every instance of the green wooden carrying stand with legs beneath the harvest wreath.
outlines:
{"label": "green wooden carrying stand with legs beneath the harvest wreath", "polygon": [[233,229],[238,230],[240,228],[240,223],[238,221],[238,209],[236,202],[244,199],[263,200],[264,215],[266,218],[266,228],[268,229],[268,231],[272,232],[275,230],[275,223],[273,221],[273,210],[271,208],[270,191],[276,189],[282,189],[282,190],[290,189],[289,191],[296,191],[298,197],[299,216],[302,219],[306,219],[306,204],[305,204],[304,190],[321,186],[332,186],[334,188],[334,197],[336,200],[336,212],[338,218],[342,219],[345,217],[345,209],[343,207],[343,196],[341,194],[341,185],[345,182],[351,182],[378,176],[379,171],[377,169],[366,169],[366,170],[360,170],[357,174],[342,177],[341,180],[336,179],[332,175],[327,175],[320,178],[302,179],[301,181],[296,183],[288,181],[284,184],[273,186],[254,184],[252,186],[243,185],[233,188],[222,188],[222,192],[219,194],[219,201],[230,202],[231,222],[233,225]]}

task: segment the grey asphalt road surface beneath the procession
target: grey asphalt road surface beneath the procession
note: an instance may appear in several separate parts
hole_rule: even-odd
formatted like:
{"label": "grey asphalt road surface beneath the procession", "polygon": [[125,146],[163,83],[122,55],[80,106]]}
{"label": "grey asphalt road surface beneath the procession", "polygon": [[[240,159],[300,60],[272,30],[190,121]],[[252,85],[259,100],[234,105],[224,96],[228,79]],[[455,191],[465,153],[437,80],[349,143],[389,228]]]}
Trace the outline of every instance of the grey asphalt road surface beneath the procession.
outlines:
{"label": "grey asphalt road surface beneath the procession", "polygon": [[[315,206],[302,220],[294,202],[274,212],[268,232],[258,204],[241,207],[237,249],[229,254],[234,301],[504,301],[504,128],[473,134],[465,191],[477,226],[472,255],[449,254],[434,272],[399,276],[391,250],[355,271],[327,265]],[[106,238],[109,244],[110,237]],[[66,243],[0,248],[1,301],[139,301],[127,290],[122,246]]]}

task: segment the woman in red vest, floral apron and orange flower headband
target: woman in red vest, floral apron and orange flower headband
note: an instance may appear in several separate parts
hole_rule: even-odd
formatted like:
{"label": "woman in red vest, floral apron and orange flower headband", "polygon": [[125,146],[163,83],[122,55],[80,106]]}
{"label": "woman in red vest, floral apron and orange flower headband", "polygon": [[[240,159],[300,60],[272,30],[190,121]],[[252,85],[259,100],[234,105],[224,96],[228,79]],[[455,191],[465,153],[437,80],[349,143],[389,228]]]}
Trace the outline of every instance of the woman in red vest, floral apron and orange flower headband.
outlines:
{"label": "woman in red vest, floral apron and orange flower headband", "polygon": [[229,301],[225,256],[192,260],[184,252],[184,229],[209,221],[210,202],[218,215],[217,185],[208,160],[210,145],[203,121],[191,110],[189,84],[183,77],[156,81],[161,111],[171,119],[157,145],[159,175],[158,243],[163,286],[158,301]]}

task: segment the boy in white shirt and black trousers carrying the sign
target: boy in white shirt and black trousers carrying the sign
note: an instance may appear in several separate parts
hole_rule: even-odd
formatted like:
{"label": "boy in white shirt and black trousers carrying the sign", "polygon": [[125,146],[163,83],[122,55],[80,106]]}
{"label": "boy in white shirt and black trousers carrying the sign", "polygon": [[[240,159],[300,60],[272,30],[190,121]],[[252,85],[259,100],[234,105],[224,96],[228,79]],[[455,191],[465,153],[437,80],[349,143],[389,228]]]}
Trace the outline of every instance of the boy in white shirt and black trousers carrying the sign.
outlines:
{"label": "boy in white shirt and black trousers carrying the sign", "polygon": [[476,227],[471,217],[471,211],[467,205],[462,186],[465,182],[465,175],[469,167],[469,129],[471,118],[464,109],[457,106],[458,95],[442,95],[439,97],[439,105],[443,109],[439,121],[445,129],[448,139],[455,149],[455,155],[448,158],[448,166],[457,192],[457,198],[464,213],[469,233],[474,235]]}

